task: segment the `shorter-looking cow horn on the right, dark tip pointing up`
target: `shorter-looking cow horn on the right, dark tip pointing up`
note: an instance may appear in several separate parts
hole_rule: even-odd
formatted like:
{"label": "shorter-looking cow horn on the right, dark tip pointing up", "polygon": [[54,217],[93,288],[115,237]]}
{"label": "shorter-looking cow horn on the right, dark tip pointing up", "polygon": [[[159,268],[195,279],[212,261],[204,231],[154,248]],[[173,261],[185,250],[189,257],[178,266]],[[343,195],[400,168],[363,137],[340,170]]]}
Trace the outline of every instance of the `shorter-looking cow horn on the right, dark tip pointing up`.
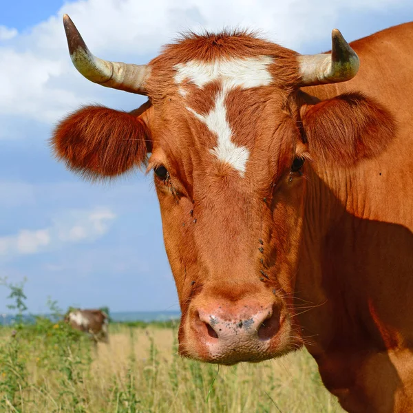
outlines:
{"label": "shorter-looking cow horn on the right, dark tip pointing up", "polygon": [[332,30],[331,54],[298,57],[301,86],[349,81],[359,70],[359,56],[352,50],[339,30]]}

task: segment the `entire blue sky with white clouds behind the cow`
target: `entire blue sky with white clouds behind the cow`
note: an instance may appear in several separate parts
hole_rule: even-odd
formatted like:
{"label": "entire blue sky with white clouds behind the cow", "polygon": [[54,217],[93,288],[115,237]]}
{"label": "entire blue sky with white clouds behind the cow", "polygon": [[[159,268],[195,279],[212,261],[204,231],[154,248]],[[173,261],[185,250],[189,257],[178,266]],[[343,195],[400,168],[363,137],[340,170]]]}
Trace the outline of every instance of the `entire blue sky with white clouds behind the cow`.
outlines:
{"label": "entire blue sky with white clouds behind the cow", "polygon": [[[407,0],[8,1],[0,14],[0,277],[19,282],[32,312],[47,297],[111,310],[178,310],[151,176],[89,184],[50,155],[56,122],[81,104],[130,110],[144,99],[87,82],[61,23],[70,14],[92,52],[146,63],[186,28],[261,29],[301,53],[408,21]],[[0,287],[0,313],[7,290]]]}

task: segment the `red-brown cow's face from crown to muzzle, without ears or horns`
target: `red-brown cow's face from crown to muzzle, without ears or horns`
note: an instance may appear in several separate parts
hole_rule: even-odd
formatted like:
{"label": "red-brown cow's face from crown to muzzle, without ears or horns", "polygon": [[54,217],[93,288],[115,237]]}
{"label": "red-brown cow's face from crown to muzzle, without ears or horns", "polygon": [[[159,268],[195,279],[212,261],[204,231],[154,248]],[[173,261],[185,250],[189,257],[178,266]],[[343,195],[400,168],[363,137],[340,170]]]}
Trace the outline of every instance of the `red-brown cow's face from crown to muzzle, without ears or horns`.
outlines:
{"label": "red-brown cow's face from crown to muzzle, without ears or horns", "polygon": [[[294,105],[297,64],[275,45],[268,56],[260,41],[253,55],[216,46],[205,61],[205,43],[185,41],[197,56],[183,61],[182,45],[170,47],[169,61],[151,64],[148,85],[149,96],[161,96],[149,115],[149,169],[182,309],[180,352],[262,360],[299,344],[292,299],[306,145]],[[282,60],[289,65],[277,68]]]}

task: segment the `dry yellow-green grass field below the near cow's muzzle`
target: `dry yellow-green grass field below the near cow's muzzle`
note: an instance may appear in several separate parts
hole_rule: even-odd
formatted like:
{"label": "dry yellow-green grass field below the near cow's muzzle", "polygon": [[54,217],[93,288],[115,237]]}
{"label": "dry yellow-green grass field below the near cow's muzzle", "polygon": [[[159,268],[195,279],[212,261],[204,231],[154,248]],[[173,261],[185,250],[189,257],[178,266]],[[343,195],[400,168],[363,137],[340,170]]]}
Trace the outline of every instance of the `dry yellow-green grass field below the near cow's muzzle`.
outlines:
{"label": "dry yellow-green grass field below the near cow's muzzle", "polygon": [[342,412],[305,351],[225,368],[178,357],[176,328],[110,327],[96,349],[44,319],[0,328],[0,412]]}

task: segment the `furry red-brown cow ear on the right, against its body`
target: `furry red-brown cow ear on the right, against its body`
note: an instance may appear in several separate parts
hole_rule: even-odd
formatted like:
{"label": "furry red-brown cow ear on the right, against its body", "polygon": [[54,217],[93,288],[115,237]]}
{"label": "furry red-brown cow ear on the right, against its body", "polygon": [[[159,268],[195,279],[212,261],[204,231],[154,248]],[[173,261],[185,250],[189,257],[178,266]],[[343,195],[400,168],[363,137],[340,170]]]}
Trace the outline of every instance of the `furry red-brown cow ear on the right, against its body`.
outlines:
{"label": "furry red-brown cow ear on the right, against its body", "polygon": [[358,93],[304,104],[301,120],[311,158],[343,167],[379,155],[396,129],[383,106]]}

